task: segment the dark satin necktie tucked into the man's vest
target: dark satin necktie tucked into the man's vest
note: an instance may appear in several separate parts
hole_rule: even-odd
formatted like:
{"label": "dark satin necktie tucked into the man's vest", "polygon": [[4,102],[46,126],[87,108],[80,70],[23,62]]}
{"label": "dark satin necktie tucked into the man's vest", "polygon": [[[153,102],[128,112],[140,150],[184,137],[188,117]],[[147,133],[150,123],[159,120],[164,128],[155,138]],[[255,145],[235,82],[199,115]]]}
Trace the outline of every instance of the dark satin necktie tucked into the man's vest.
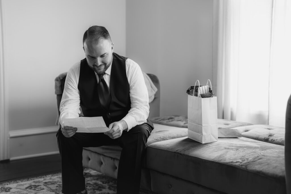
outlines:
{"label": "dark satin necktie tucked into the man's vest", "polygon": [[104,108],[105,110],[108,110],[110,102],[111,102],[111,96],[110,96],[109,88],[103,78],[103,75],[98,75],[99,83],[97,85],[97,90],[98,90],[98,96],[99,96],[99,100],[100,100],[102,108]]}

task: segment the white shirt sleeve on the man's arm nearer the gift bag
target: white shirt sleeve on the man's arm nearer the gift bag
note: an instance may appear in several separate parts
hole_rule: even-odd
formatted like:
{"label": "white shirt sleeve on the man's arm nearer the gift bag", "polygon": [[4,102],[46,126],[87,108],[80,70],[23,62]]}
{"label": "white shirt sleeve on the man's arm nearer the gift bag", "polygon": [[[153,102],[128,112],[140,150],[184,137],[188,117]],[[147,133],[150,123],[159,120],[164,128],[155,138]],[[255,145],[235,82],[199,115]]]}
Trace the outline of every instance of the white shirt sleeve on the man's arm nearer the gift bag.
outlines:
{"label": "white shirt sleeve on the man's arm nearer the gift bag", "polygon": [[127,123],[127,130],[146,122],[149,114],[148,90],[145,86],[143,73],[137,63],[131,59],[125,62],[129,83],[131,108],[123,120]]}

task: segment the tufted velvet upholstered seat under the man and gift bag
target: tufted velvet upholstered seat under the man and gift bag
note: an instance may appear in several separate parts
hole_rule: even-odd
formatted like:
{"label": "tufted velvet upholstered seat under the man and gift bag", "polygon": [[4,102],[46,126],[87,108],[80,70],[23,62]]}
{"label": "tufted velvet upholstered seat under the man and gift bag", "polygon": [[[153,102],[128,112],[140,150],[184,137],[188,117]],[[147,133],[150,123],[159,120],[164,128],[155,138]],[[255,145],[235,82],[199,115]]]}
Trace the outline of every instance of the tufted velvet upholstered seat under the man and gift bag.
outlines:
{"label": "tufted velvet upholstered seat under the man and gift bag", "polygon": [[[286,193],[284,128],[218,119],[222,137],[233,131],[239,137],[198,143],[187,138],[187,116],[159,117],[159,80],[148,75],[158,91],[150,103],[155,129],[147,142],[141,188],[165,194]],[[58,93],[58,108],[60,100]],[[83,166],[116,178],[120,151],[118,145],[84,148]]]}

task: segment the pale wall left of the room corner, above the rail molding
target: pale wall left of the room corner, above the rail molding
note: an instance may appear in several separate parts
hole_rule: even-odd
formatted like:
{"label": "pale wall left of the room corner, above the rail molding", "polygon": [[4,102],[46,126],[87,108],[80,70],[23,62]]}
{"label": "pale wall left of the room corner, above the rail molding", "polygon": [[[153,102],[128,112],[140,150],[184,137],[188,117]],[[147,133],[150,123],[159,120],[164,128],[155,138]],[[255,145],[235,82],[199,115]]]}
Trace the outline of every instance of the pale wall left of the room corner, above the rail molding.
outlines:
{"label": "pale wall left of the room corner, above the rail molding", "polygon": [[53,126],[54,79],[84,58],[83,34],[105,26],[125,55],[125,0],[2,0],[9,130]]}

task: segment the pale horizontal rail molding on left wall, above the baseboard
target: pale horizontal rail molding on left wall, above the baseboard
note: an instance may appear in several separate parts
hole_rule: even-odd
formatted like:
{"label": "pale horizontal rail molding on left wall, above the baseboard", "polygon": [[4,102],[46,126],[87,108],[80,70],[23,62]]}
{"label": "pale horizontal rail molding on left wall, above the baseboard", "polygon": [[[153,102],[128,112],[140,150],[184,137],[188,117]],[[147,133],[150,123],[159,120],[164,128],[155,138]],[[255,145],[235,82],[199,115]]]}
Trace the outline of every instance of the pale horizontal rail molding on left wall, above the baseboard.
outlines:
{"label": "pale horizontal rail molding on left wall, above the baseboard", "polygon": [[42,128],[34,128],[34,129],[19,129],[9,131],[10,138],[22,137],[22,136],[31,136],[31,135],[39,135],[39,134],[48,134],[48,133],[56,133],[58,131],[58,126],[52,127],[42,127]]}

